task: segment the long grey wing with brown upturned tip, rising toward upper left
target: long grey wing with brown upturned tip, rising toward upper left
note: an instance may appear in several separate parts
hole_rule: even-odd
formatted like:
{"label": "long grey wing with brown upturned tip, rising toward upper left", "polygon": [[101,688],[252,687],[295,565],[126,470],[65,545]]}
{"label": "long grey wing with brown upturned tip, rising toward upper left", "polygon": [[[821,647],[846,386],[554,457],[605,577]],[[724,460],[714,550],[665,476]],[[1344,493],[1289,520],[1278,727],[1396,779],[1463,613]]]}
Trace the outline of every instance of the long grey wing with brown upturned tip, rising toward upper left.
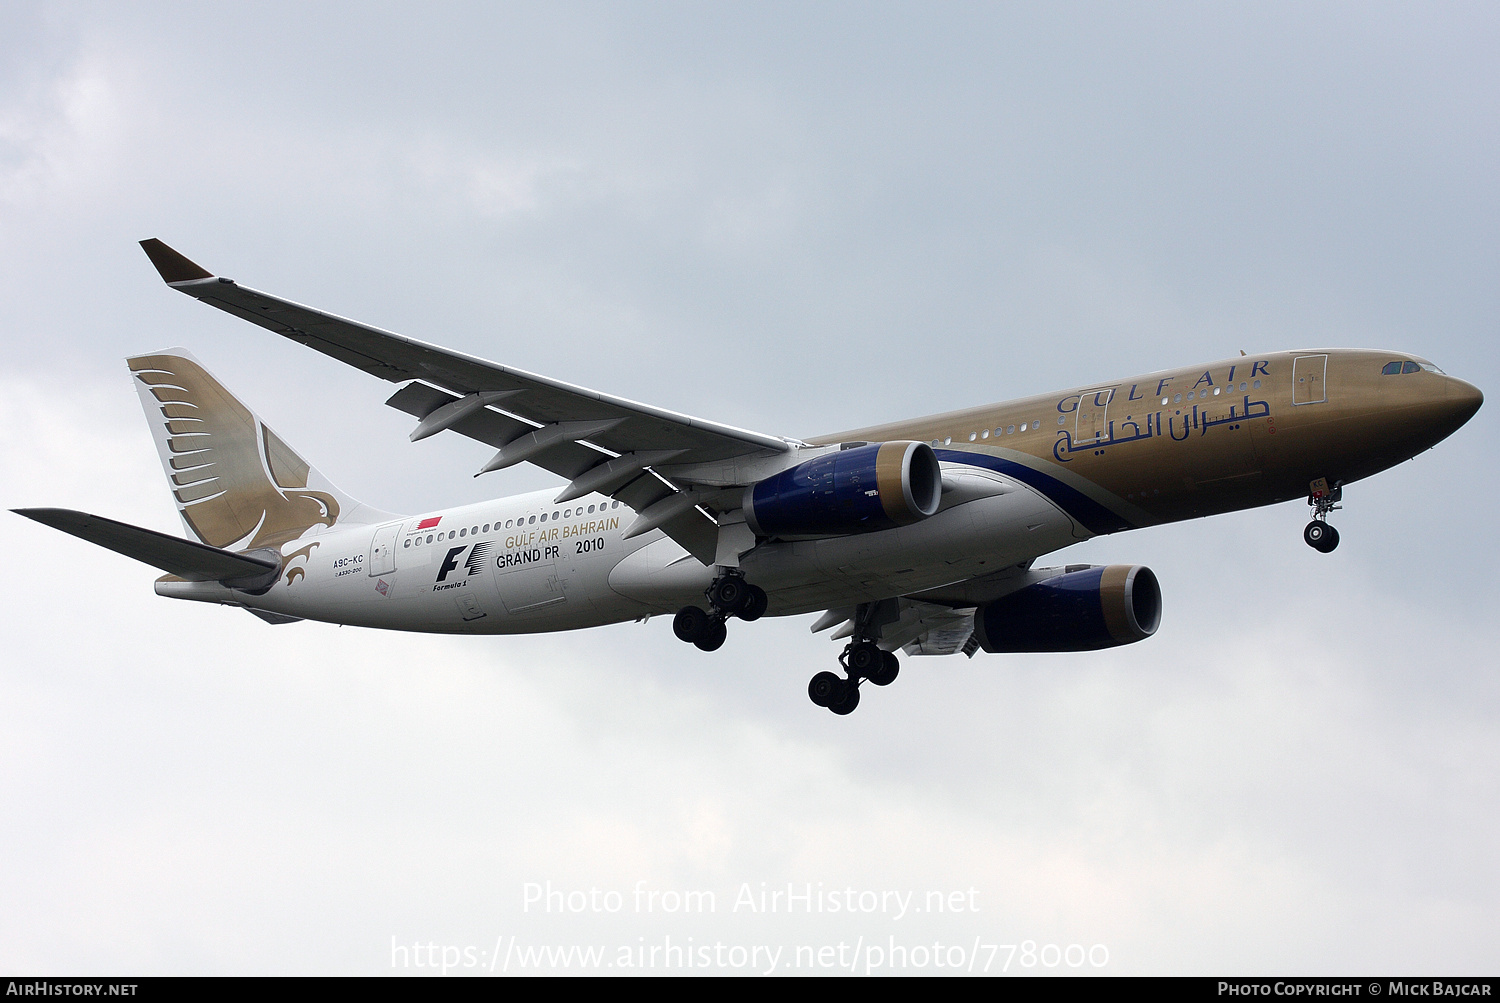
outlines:
{"label": "long grey wing with brown upturned tip, rising toward upper left", "polygon": [[558,501],[598,492],[712,564],[717,525],[702,496],[656,472],[786,453],[795,441],[693,418],[484,361],[324,313],[214,276],[159,240],[141,247],[162,279],[208,306],[315,348],[381,379],[405,382],[388,405],[420,423],[411,438],[453,429],[496,448],[480,474],[530,462],[568,478]]}

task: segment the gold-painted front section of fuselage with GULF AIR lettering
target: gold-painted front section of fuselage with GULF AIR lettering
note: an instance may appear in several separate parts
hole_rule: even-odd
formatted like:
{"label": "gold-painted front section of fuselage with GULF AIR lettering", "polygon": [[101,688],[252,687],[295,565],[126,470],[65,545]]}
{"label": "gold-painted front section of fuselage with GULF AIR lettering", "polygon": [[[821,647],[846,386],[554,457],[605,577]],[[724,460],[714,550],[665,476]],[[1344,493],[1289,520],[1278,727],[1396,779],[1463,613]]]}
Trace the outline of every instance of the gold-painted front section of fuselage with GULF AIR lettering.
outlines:
{"label": "gold-painted front section of fuselage with GULF AIR lettering", "polygon": [[[1336,487],[1370,477],[1431,448],[1482,402],[1478,388],[1414,355],[1310,349],[812,442],[926,441],[939,459],[963,460],[963,453],[1018,474],[1076,517],[1082,511],[1095,532],[1112,532],[1305,498],[1318,478]],[[1070,505],[1059,495],[1086,501]]]}

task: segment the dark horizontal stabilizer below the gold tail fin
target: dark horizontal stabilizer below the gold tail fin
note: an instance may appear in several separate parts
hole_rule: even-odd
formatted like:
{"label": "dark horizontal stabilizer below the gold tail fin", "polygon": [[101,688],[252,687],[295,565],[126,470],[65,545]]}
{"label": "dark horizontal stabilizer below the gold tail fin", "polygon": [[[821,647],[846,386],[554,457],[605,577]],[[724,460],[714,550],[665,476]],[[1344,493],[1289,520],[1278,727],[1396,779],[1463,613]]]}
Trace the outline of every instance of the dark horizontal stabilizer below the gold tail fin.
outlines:
{"label": "dark horizontal stabilizer below the gold tail fin", "polygon": [[70,508],[14,508],[12,511],[34,519],[44,526],[62,529],[80,540],[142,561],[188,582],[224,582],[232,588],[254,591],[274,582],[280,571],[280,561],[273,552],[266,552],[266,556],[231,553]]}

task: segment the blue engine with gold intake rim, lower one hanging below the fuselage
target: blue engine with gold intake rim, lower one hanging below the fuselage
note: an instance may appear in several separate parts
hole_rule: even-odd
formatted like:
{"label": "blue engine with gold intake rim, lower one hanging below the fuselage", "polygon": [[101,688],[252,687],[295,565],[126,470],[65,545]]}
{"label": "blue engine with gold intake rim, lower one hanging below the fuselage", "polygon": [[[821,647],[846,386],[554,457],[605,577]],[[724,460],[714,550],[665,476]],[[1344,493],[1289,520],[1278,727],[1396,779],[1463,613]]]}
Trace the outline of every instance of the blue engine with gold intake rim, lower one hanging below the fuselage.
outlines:
{"label": "blue engine with gold intake rim, lower one hanging below the fuselage", "polygon": [[974,615],[988,652],[1095,651],[1144,640],[1161,624],[1161,585],[1131,564],[1088,568],[1028,585]]}

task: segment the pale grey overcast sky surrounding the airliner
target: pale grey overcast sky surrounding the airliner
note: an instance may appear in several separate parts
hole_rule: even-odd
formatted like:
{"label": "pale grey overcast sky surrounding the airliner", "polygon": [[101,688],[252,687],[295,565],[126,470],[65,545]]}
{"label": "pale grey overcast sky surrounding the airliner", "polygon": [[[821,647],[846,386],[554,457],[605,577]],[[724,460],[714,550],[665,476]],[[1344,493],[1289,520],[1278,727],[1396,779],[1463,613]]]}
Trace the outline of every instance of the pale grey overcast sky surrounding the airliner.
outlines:
{"label": "pale grey overcast sky surrounding the airliner", "polygon": [[[122,361],[166,346],[381,508],[555,483],[410,444],[388,384],[168,291],[144,237],[778,435],[1239,349],[1492,396],[1497,51],[1494,4],[9,3],[0,501],[182,532]],[[1300,504],[1074,547],[1156,571],[1155,637],[908,658],[849,718],[807,700],[838,651],[810,616],[714,655],[664,619],[270,627],[6,516],[0,969],[692,939],[742,972],[1034,942],[1092,954],[1026,972],[1492,975],[1497,436],[1491,402],[1350,486],[1329,556]],[[528,904],[548,882],[620,909]],[[736,903],[762,883],[882,906]],[[684,892],[714,912],[662,912]]]}

